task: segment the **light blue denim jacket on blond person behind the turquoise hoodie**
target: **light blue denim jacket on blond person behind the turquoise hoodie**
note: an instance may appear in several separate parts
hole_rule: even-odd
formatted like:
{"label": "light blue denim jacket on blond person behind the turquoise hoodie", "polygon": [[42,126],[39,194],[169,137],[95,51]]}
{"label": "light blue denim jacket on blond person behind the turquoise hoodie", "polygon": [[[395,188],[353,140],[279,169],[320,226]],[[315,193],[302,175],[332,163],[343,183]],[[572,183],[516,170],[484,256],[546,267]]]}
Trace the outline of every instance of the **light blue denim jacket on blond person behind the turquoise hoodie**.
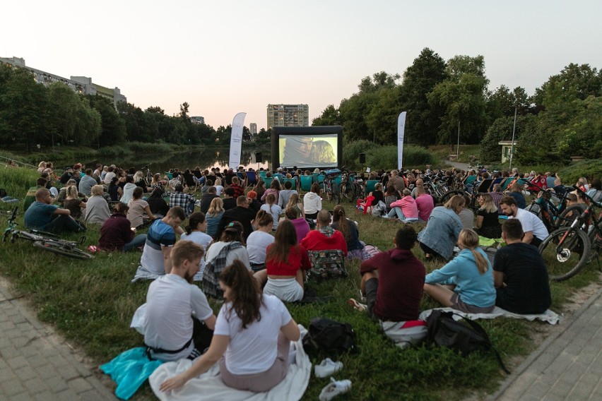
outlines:
{"label": "light blue denim jacket on blond person behind the turquoise hoodie", "polygon": [[425,229],[418,233],[418,241],[449,261],[461,230],[462,222],[454,210],[437,206],[432,210]]}

